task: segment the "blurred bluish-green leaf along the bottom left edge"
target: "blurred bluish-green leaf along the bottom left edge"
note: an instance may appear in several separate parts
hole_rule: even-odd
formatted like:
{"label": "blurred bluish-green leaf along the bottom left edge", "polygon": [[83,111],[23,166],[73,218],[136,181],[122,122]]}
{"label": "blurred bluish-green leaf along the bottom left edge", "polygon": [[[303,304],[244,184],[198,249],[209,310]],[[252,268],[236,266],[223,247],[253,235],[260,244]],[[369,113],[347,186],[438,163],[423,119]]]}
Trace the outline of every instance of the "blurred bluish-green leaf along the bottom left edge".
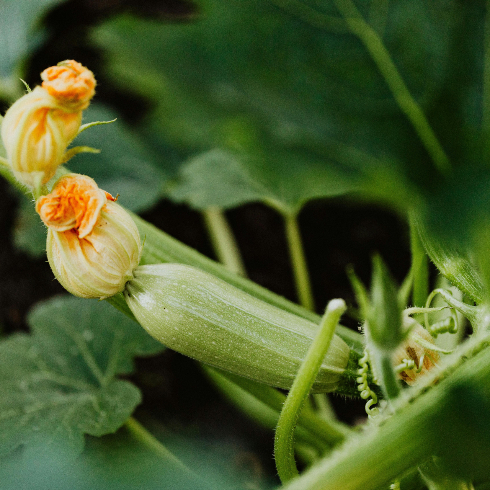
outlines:
{"label": "blurred bluish-green leaf along the bottom left edge", "polygon": [[[67,462],[63,453],[53,448],[30,461],[16,455],[4,458],[0,465],[2,490],[266,490],[273,487],[257,471],[253,453],[241,452],[242,448],[233,441],[188,441],[168,431],[160,439],[184,464],[192,467],[198,479],[183,474],[123,428],[116,434],[88,438],[84,452],[75,461]],[[245,471],[248,465],[255,471]]]}

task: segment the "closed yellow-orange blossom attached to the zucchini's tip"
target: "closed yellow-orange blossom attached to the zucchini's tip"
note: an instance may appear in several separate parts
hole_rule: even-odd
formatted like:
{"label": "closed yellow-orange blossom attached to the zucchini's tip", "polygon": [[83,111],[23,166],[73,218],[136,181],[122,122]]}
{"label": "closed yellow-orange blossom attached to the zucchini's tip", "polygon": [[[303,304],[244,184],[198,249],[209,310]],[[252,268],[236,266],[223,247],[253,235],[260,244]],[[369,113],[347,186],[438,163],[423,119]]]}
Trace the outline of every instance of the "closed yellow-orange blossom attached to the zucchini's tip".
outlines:
{"label": "closed yellow-orange blossom attached to the zucchini's tip", "polygon": [[103,299],[133,278],[141,253],[136,224],[93,179],[61,177],[36,211],[48,227],[49,265],[70,293]]}

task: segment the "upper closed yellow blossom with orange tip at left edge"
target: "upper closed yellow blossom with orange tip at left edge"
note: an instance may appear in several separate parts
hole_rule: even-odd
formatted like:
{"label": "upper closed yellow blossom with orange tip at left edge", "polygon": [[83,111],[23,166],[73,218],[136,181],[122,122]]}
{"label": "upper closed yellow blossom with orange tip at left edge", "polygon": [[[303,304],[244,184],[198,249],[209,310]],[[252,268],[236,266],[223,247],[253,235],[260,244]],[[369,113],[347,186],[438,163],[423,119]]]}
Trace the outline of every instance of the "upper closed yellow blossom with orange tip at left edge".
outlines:
{"label": "upper closed yellow blossom with orange tip at left edge", "polygon": [[9,108],[1,132],[15,177],[31,189],[48,182],[63,163],[96,84],[93,73],[73,60],[44,70],[41,78],[41,87]]}

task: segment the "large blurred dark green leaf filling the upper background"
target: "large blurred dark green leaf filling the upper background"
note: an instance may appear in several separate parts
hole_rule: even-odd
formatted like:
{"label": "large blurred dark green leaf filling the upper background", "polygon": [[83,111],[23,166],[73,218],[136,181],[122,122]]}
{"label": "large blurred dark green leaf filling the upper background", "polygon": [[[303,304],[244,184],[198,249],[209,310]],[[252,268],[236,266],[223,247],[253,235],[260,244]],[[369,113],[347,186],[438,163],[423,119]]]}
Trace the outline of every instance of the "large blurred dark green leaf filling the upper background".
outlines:
{"label": "large blurred dark green leaf filling the upper background", "polygon": [[[452,3],[392,2],[387,11],[385,2],[361,3],[428,113],[450,72]],[[291,196],[296,205],[361,184],[406,205],[407,181],[434,175],[420,138],[334,2],[323,10],[294,0],[199,4],[192,24],[123,16],[94,33],[114,80],[156,102],[145,131],[160,130],[187,150],[238,152],[259,183],[271,179],[283,188],[290,175],[287,187],[295,191],[286,193],[287,205]],[[325,174],[316,173],[319,166]],[[297,167],[308,169],[306,178]],[[324,182],[309,195],[315,174]],[[209,178],[195,180],[205,185]],[[233,201],[236,188],[224,193]]]}

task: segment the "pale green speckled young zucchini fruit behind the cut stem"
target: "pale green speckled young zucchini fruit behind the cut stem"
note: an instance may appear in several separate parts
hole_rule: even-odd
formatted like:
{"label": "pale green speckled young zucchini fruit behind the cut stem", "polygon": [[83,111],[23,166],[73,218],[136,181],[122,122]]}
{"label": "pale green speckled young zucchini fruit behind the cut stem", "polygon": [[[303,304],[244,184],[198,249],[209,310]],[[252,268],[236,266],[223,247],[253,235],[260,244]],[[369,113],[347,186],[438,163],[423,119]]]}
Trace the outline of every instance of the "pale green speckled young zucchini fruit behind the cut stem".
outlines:
{"label": "pale green speckled young zucchini fruit behind the cut stem", "polygon": [[[169,348],[285,389],[291,387],[318,328],[183,264],[137,267],[124,296],[138,322]],[[313,392],[335,391],[355,376],[345,376],[347,366],[356,365],[351,353],[357,356],[335,335]]]}

